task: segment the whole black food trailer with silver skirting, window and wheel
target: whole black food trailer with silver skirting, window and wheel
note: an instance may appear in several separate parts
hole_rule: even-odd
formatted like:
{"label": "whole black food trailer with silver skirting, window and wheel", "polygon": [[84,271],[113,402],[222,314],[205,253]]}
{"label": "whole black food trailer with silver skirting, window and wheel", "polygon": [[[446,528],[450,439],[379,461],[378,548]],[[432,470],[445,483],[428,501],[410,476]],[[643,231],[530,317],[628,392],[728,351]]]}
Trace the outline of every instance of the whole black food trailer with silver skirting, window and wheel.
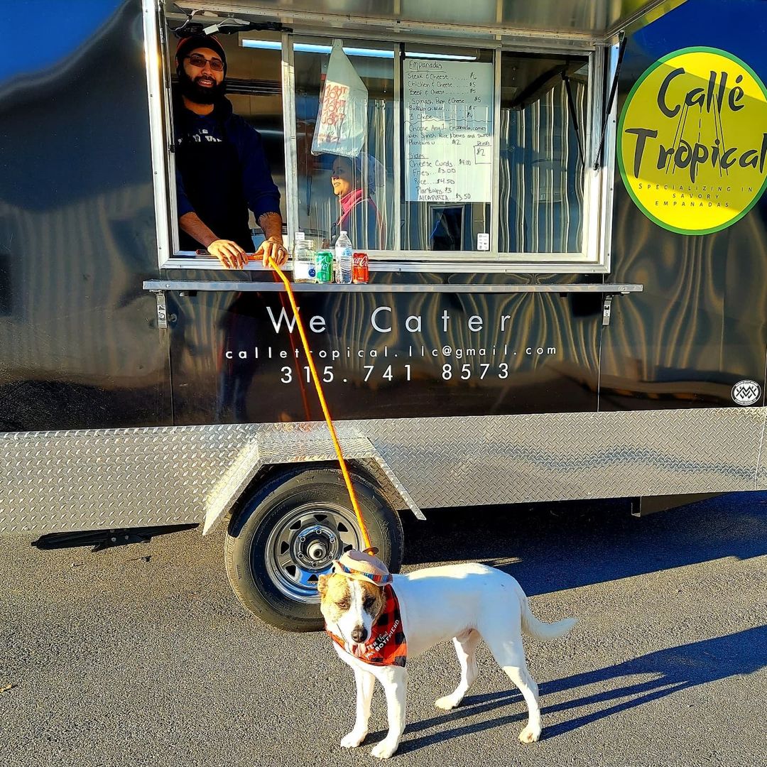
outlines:
{"label": "whole black food trailer with silver skirting, window and wheel", "polygon": [[319,574],[361,547],[285,285],[179,246],[193,33],[225,51],[291,250],[332,245],[334,179],[357,175],[369,281],[294,289],[390,568],[400,515],[424,509],[767,487],[767,3],[21,0],[4,18],[0,532],[225,530],[235,593],[291,630],[321,624]]}

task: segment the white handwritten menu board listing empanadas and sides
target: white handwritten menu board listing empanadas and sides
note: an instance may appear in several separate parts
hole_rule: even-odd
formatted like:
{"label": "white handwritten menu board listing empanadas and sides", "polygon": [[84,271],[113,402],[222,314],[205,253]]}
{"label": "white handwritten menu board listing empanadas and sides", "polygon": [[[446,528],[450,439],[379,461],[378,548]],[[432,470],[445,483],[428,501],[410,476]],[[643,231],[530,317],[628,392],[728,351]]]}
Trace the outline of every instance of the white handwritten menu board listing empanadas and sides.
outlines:
{"label": "white handwritten menu board listing empanadas and sides", "polygon": [[405,199],[490,202],[492,64],[407,58]]}

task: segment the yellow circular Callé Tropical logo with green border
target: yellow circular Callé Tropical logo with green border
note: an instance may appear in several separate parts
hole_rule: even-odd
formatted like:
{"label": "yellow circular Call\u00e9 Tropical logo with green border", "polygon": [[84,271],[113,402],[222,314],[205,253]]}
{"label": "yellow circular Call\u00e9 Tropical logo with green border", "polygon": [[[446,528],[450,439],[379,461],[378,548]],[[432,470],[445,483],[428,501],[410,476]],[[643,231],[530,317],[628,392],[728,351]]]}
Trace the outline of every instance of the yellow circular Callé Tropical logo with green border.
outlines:
{"label": "yellow circular Call\u00e9 Tropical logo with green border", "polygon": [[718,48],[683,48],[631,89],[618,123],[618,164],[637,206],[665,229],[718,232],[767,187],[767,91]]}

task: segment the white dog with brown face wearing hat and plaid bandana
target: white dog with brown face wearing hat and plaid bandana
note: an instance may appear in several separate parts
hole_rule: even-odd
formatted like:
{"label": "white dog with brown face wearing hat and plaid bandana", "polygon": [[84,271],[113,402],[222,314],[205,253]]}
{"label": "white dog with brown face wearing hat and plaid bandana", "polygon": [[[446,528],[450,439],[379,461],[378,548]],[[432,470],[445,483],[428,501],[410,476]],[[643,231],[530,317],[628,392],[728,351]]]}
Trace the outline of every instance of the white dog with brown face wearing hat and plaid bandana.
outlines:
{"label": "white dog with brown face wearing hat and plaid bandana", "polygon": [[389,732],[372,755],[380,759],[393,755],[405,729],[405,660],[451,637],[461,681],[436,706],[449,710],[463,700],[476,680],[476,647],[482,637],[525,697],[528,724],[519,739],[532,743],[541,737],[538,685],[525,663],[522,631],[552,640],[567,634],[576,621],[538,621],[511,575],[486,565],[449,565],[392,576],[379,559],[349,551],[335,562],[333,574],[320,577],[318,588],[325,628],[357,681],[357,721],[341,746],[354,748],[367,736],[370,700],[378,680],[386,693]]}

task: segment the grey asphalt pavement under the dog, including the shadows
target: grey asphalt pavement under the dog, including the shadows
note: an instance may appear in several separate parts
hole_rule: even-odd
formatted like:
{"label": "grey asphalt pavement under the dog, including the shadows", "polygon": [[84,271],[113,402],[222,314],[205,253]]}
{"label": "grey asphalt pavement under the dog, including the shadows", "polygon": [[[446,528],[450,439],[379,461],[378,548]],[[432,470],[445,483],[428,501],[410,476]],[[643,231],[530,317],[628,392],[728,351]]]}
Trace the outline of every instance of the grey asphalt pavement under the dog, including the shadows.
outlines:
{"label": "grey asphalt pavement under the dog, including the shadows", "polygon": [[[625,502],[433,510],[404,517],[404,571],[482,561],[511,573],[568,637],[525,639],[543,739],[522,745],[518,690],[479,650],[462,706],[452,644],[410,667],[395,765],[763,765],[767,494],[647,518]],[[386,729],[374,696],[359,749],[354,678],[324,634],[260,623],[226,580],[223,532],[100,553],[0,537],[4,767],[367,765]]]}

